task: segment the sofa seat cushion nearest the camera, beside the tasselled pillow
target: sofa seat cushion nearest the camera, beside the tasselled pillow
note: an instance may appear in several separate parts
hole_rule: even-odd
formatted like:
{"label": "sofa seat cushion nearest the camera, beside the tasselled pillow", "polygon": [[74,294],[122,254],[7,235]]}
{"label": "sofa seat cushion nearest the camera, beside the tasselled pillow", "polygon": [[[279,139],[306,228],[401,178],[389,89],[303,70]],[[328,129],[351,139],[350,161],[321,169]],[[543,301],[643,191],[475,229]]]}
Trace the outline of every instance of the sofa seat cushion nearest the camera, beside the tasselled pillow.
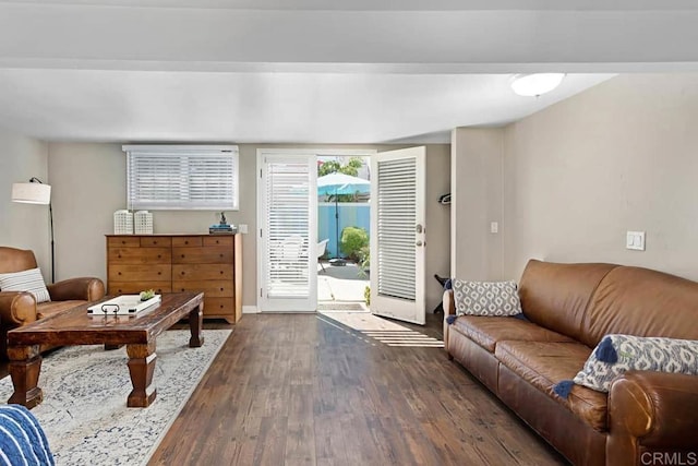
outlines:
{"label": "sofa seat cushion nearest the camera, beside the tasselled pillow", "polygon": [[583,366],[591,348],[579,343],[498,342],[495,356],[527,383],[554,398],[598,431],[605,431],[607,396],[575,385],[565,399],[554,393],[554,385],[571,379]]}

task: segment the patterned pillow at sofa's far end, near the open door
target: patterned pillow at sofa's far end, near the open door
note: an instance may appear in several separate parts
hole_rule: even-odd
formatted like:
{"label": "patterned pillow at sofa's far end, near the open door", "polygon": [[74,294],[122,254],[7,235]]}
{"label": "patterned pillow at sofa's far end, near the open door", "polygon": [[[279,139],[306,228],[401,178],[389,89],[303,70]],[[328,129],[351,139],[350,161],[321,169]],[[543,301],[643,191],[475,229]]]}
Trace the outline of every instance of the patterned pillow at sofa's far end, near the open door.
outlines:
{"label": "patterned pillow at sofa's far end, near the open door", "polygon": [[521,301],[516,282],[466,282],[454,279],[456,315],[516,315]]}

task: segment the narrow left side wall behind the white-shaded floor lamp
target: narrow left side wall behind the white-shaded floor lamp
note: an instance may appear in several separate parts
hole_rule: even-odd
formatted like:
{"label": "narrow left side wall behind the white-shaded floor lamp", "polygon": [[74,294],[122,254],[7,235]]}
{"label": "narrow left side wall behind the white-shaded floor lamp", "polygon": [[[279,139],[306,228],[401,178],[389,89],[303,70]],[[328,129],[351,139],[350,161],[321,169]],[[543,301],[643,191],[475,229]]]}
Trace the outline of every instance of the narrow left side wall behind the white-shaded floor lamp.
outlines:
{"label": "narrow left side wall behind the white-shaded floor lamp", "polygon": [[0,246],[31,249],[44,273],[51,278],[49,222],[47,205],[11,201],[12,184],[36,177],[50,183],[47,145],[0,129]]}

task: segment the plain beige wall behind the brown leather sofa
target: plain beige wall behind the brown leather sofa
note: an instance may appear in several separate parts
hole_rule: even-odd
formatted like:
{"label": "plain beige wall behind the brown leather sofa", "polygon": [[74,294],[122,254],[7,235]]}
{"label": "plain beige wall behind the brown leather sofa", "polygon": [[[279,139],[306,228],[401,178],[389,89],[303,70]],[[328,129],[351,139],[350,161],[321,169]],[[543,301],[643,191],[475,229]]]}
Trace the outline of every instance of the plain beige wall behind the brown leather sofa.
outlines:
{"label": "plain beige wall behind the brown leather sofa", "polygon": [[505,275],[538,258],[698,279],[697,129],[698,74],[621,75],[507,127]]}

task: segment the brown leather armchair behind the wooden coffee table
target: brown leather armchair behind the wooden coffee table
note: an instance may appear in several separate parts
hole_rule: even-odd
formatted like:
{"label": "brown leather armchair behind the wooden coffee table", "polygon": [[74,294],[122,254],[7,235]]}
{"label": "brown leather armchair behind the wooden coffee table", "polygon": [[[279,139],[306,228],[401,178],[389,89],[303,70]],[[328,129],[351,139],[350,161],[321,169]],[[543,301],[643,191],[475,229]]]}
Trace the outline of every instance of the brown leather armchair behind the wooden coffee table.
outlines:
{"label": "brown leather armchair behind the wooden coffee table", "polygon": [[[34,252],[0,247],[0,273],[22,272],[36,266]],[[0,289],[0,357],[7,359],[8,331],[105,296],[105,284],[93,277],[71,278],[47,288],[51,300],[40,303],[29,292]],[[49,346],[40,349],[49,349]]]}

